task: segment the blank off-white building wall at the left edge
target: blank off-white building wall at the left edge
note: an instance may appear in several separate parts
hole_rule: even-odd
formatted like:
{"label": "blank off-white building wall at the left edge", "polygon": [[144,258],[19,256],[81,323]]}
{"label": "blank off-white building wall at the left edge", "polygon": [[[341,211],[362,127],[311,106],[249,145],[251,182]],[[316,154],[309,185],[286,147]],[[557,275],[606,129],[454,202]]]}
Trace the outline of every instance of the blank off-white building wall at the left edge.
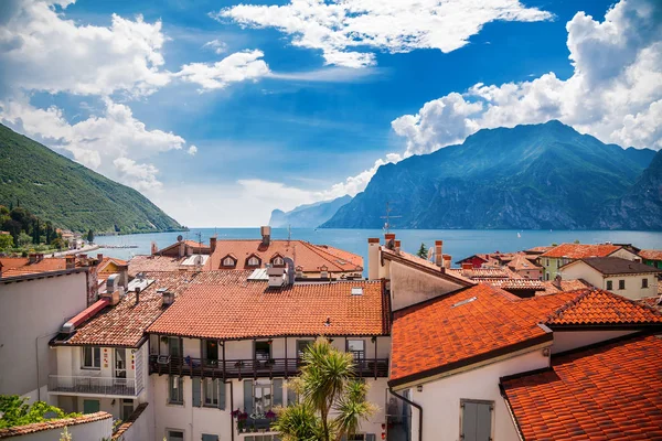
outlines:
{"label": "blank off-white building wall at the left edge", "polygon": [[0,395],[49,400],[46,384],[55,365],[49,341],[87,306],[86,271],[57,273],[0,280]]}

